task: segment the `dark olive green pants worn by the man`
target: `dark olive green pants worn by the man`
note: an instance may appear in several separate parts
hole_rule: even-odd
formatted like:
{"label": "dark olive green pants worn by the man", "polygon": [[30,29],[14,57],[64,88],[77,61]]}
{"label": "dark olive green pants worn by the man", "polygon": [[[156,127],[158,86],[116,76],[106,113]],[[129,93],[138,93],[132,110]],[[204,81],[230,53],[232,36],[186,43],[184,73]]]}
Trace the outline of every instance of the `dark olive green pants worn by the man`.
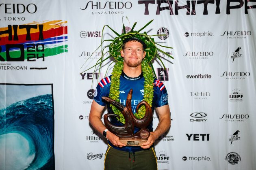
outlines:
{"label": "dark olive green pants worn by the man", "polygon": [[125,152],[108,146],[104,170],[157,170],[154,148],[145,151]]}

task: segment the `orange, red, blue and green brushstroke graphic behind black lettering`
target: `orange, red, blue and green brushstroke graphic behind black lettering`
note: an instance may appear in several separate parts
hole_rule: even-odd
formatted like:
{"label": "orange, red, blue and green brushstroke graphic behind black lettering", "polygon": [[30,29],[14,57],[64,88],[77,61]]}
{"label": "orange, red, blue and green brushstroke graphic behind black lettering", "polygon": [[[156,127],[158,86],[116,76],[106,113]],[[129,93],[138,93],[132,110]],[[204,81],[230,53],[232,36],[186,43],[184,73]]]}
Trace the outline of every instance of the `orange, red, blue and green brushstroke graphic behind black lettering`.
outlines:
{"label": "orange, red, blue and green brushstroke graphic behind black lettering", "polygon": [[14,60],[21,55],[26,60],[31,53],[40,58],[42,53],[44,57],[48,57],[65,52],[67,21],[33,22],[0,28],[0,61],[7,61],[7,53]]}

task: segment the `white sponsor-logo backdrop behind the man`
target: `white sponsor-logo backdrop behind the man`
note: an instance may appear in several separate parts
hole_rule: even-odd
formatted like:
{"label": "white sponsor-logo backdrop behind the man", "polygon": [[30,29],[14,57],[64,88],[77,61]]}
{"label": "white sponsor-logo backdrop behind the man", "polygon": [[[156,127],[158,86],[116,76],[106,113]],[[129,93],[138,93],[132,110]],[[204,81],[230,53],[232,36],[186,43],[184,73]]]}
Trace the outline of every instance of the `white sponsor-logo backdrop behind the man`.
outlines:
{"label": "white sponsor-logo backdrop behind the man", "polygon": [[158,169],[256,170],[255,0],[1,0],[0,170],[104,168],[106,140],[88,118],[112,68],[80,72],[123,16],[135,30],[154,19],[143,31],[174,47],[174,60],[160,53],[167,70],[153,62],[172,119]]}

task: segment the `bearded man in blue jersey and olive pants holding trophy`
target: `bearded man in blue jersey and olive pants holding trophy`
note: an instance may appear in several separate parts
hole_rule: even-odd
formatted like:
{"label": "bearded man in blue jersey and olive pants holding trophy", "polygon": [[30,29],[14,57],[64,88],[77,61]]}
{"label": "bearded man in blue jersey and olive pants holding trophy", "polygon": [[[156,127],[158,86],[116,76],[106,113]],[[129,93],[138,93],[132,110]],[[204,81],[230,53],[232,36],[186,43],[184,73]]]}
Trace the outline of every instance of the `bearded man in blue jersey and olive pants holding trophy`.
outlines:
{"label": "bearded man in blue jersey and olive pants holding trophy", "polygon": [[[126,96],[130,89],[133,89],[132,96],[132,110],[136,111],[136,106],[139,101],[143,100],[143,82],[144,77],[142,74],[142,61],[146,55],[144,49],[145,43],[138,38],[127,38],[123,41],[123,47],[121,49],[121,57],[124,58],[123,72],[120,76],[120,101],[124,105]],[[153,132],[152,122],[148,126],[150,130],[150,136],[148,141],[142,144],[141,147],[130,147],[119,141],[119,137],[110,131],[106,130],[106,127],[102,123],[101,115],[106,104],[101,100],[102,96],[108,96],[111,76],[104,78],[104,85],[97,86],[97,96],[91,105],[91,111],[89,115],[89,122],[100,134],[105,134],[108,139],[108,149],[105,155],[104,168],[105,170],[125,170],[125,169],[138,169],[138,170],[156,170],[157,162],[154,152],[153,144],[155,140],[167,131],[170,127],[170,110],[167,101],[167,91],[164,85],[159,80],[154,80],[154,98],[152,102],[152,108],[156,109],[159,117],[159,123],[156,130]],[[113,112],[108,105],[108,111]],[[134,113],[135,113],[134,111]],[[117,119],[113,119],[113,122],[120,124]],[[136,131],[137,129],[135,129]],[[136,159],[135,159],[136,158]]]}

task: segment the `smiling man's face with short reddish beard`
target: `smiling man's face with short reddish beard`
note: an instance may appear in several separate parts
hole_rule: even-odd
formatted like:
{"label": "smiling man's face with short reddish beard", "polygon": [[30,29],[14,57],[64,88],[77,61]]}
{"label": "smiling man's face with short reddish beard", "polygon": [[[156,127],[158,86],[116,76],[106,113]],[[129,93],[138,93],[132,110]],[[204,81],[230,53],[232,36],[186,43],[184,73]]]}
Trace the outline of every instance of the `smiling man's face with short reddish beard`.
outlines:
{"label": "smiling man's face with short reddish beard", "polygon": [[121,50],[121,57],[124,58],[124,64],[129,67],[139,66],[145,54],[143,45],[137,41],[128,41],[125,44],[124,50]]}

